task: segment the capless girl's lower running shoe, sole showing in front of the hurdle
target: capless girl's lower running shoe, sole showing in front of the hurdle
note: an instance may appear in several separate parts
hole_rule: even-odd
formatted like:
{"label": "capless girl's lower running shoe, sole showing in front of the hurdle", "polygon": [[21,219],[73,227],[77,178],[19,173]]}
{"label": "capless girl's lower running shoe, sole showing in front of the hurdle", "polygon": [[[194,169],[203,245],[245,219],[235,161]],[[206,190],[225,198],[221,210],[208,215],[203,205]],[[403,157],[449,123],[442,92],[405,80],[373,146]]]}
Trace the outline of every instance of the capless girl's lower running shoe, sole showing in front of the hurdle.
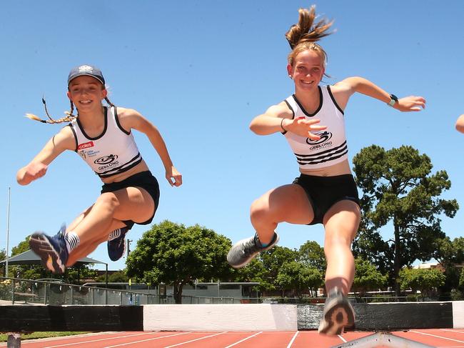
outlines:
{"label": "capless girl's lower running shoe, sole showing in front of the hurdle", "polygon": [[341,334],[343,329],[353,328],[354,324],[355,312],[350,301],[343,295],[340,289],[332,289],[324,305],[319,333],[330,335]]}

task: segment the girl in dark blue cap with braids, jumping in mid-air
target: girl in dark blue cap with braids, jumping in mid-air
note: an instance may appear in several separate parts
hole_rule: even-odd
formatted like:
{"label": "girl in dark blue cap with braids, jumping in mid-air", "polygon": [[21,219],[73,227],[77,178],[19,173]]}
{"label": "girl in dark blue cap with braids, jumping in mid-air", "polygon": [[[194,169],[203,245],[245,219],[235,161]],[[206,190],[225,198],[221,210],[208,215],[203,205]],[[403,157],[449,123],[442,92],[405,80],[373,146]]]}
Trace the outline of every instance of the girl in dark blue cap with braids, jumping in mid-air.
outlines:
{"label": "girl in dark blue cap with braids, jumping in mid-air", "polygon": [[[17,182],[27,185],[46,174],[47,168],[65,150],[76,151],[104,183],[101,195],[67,229],[51,237],[35,232],[31,249],[54,273],[90,254],[109,241],[109,256],[122,257],[125,234],[133,224],[150,224],[158,207],[159,187],[133,139],[132,129],[146,134],[163,162],[166,179],[180,186],[182,176],[173,166],[166,144],[156,126],[133,109],[116,107],[107,97],[105,79],[95,66],[72,69],[68,77],[71,111],[63,119],[48,120],[27,114],[44,123],[70,122],[53,136],[34,159],[19,169]],[[108,106],[101,104],[105,99]],[[44,101],[45,104],[45,101]],[[74,116],[74,106],[77,116]],[[46,109],[46,108],[45,108]]]}

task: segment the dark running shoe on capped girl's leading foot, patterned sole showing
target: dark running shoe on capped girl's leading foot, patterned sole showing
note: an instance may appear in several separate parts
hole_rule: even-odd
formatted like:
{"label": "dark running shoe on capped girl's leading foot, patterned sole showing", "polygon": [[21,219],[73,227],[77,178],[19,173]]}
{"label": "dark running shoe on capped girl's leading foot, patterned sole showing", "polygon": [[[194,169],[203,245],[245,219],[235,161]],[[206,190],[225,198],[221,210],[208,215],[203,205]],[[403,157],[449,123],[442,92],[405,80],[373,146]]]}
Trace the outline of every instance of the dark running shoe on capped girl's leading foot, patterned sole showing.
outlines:
{"label": "dark running shoe on capped girl's leading foot, patterned sole showing", "polygon": [[29,238],[29,246],[41,258],[44,268],[54,273],[64,273],[68,261],[68,249],[64,240],[65,227],[53,237],[44,232],[34,232]]}

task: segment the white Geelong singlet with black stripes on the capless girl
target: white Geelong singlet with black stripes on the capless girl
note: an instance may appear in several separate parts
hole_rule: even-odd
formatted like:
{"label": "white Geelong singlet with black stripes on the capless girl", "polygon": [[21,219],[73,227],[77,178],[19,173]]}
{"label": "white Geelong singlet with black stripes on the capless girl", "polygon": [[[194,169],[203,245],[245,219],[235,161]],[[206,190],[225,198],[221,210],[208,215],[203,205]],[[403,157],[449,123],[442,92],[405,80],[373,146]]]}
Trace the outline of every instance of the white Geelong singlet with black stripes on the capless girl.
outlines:
{"label": "white Geelong singlet with black stripes on the capless girl", "polygon": [[319,140],[311,140],[290,131],[283,132],[301,169],[324,168],[348,158],[343,110],[333,98],[330,86],[318,86],[318,88],[321,103],[314,114],[308,114],[303,109],[295,94],[285,100],[293,111],[293,119],[300,117],[320,119],[319,125],[327,126],[326,130],[314,133],[321,136]]}

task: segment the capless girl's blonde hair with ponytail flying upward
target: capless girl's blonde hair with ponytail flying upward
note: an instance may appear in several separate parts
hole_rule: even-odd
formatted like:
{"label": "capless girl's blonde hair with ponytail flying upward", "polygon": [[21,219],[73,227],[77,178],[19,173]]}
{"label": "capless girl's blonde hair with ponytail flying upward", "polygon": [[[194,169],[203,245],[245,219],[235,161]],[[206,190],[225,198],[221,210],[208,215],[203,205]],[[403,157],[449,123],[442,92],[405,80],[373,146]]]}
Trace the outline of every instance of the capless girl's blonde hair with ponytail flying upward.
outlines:
{"label": "capless girl's blonde hair with ponytail flying upward", "polygon": [[288,64],[293,66],[293,63],[302,51],[310,50],[315,51],[323,61],[323,67],[326,67],[327,54],[323,48],[316,44],[324,36],[332,34],[332,31],[328,31],[331,28],[333,21],[327,21],[321,19],[315,23],[316,19],[316,6],[311,6],[311,9],[299,9],[298,23],[293,24],[290,29],[286,32],[285,36],[292,49],[291,53],[288,54]]}

